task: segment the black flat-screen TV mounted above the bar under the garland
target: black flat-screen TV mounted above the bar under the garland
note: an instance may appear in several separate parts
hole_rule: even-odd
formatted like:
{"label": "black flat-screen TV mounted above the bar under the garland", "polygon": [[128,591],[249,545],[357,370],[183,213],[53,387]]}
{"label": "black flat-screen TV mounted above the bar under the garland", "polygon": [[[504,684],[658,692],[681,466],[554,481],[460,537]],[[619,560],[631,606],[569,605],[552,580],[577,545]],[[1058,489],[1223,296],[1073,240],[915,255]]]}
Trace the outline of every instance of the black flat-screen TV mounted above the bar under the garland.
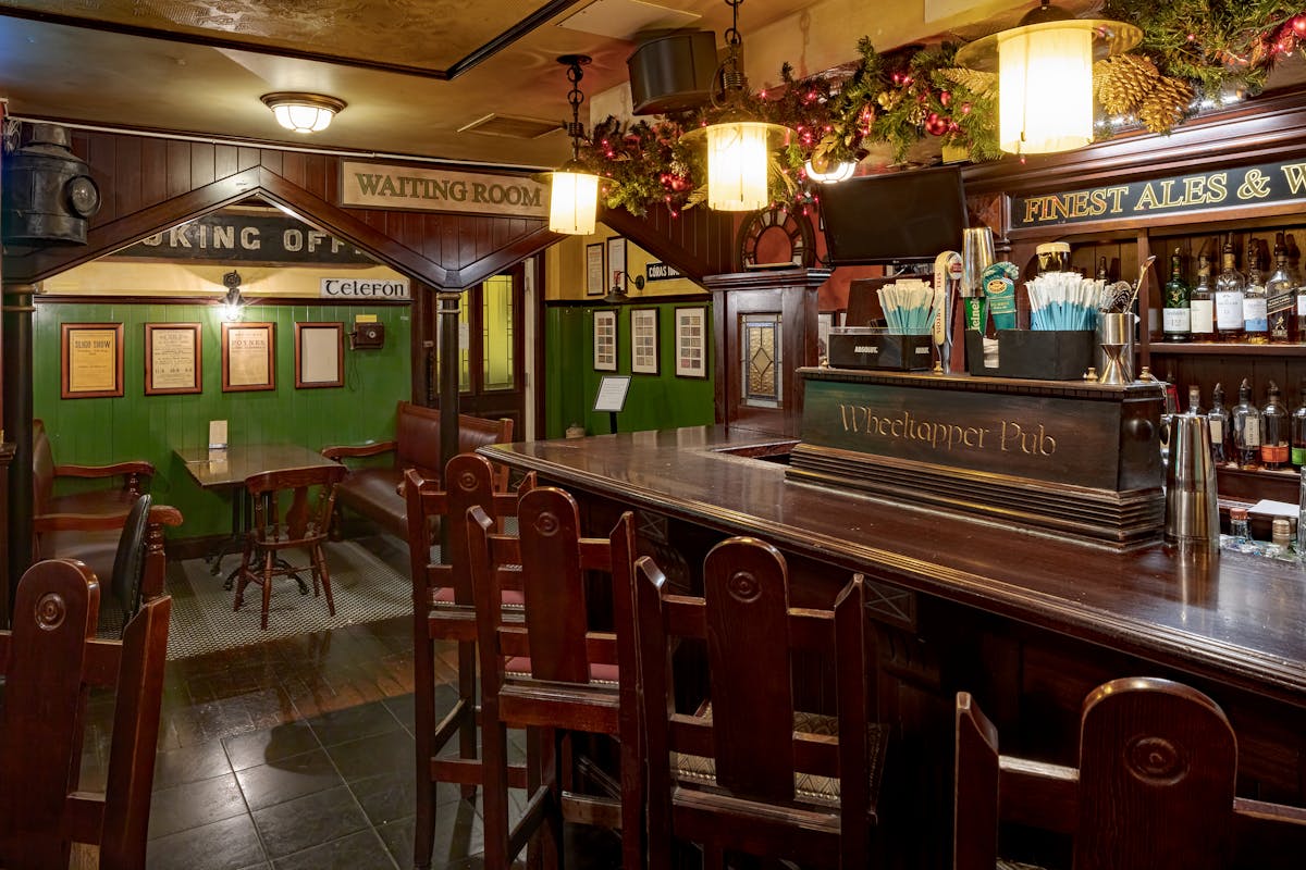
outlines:
{"label": "black flat-screen TV mounted above the bar under the garland", "polygon": [[966,201],[955,166],[862,175],[820,188],[831,266],[932,261],[961,250]]}

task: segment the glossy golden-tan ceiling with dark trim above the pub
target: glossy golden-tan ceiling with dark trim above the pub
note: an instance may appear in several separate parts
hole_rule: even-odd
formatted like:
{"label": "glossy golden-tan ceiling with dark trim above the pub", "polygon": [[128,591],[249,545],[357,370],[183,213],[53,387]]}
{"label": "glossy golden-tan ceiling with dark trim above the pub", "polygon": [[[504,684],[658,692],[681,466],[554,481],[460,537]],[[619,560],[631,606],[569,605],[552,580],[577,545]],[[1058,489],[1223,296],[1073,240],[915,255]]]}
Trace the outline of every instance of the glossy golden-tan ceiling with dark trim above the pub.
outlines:
{"label": "glossy golden-tan ceiling with dark trim above the pub", "polygon": [[[747,0],[739,29],[757,87],[785,60],[801,76],[854,60],[862,34],[891,48],[1029,5]],[[559,55],[593,57],[582,111],[601,116],[623,95],[628,107],[626,60],[640,35],[704,29],[721,44],[729,26],[724,0],[0,0],[0,97],[21,119],[552,167],[569,154]],[[329,129],[295,134],[259,100],[285,90],[347,107]],[[490,115],[546,132],[465,129]]]}

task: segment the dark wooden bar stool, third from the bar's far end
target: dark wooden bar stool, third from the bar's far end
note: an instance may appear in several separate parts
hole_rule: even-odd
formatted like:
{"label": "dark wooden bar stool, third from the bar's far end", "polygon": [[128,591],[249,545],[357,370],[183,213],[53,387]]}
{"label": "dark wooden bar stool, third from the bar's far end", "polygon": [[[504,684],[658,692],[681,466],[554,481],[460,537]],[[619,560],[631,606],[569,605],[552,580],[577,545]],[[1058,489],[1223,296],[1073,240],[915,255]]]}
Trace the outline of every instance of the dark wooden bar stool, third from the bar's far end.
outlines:
{"label": "dark wooden bar stool, third from the bar's far end", "polygon": [[[731,850],[868,866],[887,734],[867,715],[862,579],[833,610],[790,608],[784,556],[751,537],[712,548],[703,597],[674,595],[646,557],[635,574],[648,866],[671,866],[673,837],[701,844],[705,867]],[[710,698],[678,707],[671,660],[687,638],[705,643]],[[835,663],[835,715],[795,707],[799,650]]]}

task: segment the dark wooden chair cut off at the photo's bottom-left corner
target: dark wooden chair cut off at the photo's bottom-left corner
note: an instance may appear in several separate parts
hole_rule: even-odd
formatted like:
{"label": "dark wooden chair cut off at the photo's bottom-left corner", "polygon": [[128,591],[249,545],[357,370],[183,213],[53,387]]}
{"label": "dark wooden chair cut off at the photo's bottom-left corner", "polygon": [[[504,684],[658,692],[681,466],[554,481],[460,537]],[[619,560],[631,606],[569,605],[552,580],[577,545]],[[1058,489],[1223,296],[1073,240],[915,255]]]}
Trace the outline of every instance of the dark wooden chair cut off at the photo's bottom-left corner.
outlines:
{"label": "dark wooden chair cut off at the photo's bottom-left corner", "polygon": [[[172,600],[146,601],[121,642],[97,640],[99,593],[85,565],[38,562],[0,631],[0,866],[64,870],[74,843],[98,845],[103,870],[145,866]],[[103,794],[78,788],[93,686],[118,693]]]}

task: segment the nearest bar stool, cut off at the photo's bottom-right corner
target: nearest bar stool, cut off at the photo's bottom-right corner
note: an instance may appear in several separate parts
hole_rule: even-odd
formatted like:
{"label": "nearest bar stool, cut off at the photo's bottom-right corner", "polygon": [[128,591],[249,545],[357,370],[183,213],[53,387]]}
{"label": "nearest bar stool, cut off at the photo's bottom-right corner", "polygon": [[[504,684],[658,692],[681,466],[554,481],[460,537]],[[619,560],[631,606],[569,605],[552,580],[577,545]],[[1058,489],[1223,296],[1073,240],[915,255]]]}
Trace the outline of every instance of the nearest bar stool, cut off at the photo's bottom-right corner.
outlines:
{"label": "nearest bar stool, cut off at the photo's bottom-right corner", "polygon": [[1306,809],[1234,796],[1238,743],[1188,686],[1113,680],[1084,700],[1079,767],[998,754],[957,693],[953,867],[994,870],[1003,822],[1074,837],[1076,870],[1301,867]]}

